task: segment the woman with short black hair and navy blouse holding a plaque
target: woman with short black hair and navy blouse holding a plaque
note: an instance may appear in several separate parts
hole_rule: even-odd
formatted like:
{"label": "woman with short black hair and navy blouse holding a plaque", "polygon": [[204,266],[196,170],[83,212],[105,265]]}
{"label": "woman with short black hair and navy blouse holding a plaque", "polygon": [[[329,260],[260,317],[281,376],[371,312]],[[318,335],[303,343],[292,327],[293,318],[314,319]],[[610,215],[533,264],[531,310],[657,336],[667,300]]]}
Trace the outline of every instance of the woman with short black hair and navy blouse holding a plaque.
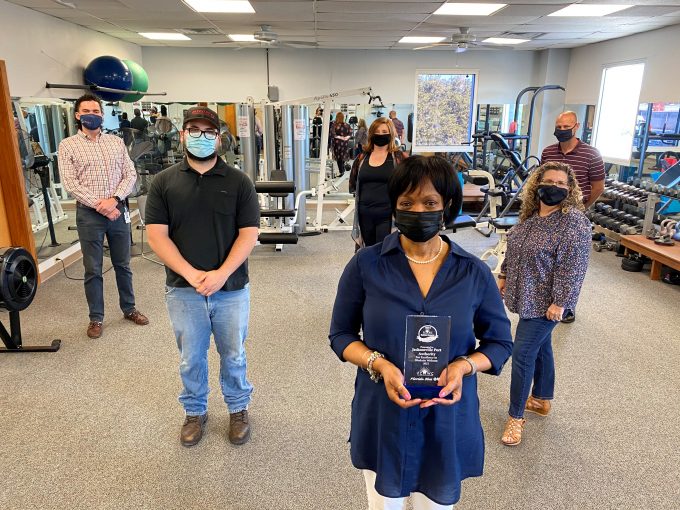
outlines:
{"label": "woman with short black hair and navy blouse holding a plaque", "polygon": [[[329,334],[338,357],[358,367],[352,464],[363,471],[370,509],[401,509],[409,496],[416,510],[451,508],[461,480],[482,474],[475,374],[500,373],[510,322],[489,268],[439,235],[462,203],[451,165],[408,158],[388,192],[398,231],[347,264]],[[417,365],[407,349],[438,353],[434,385],[419,385],[433,372],[430,360]]]}

